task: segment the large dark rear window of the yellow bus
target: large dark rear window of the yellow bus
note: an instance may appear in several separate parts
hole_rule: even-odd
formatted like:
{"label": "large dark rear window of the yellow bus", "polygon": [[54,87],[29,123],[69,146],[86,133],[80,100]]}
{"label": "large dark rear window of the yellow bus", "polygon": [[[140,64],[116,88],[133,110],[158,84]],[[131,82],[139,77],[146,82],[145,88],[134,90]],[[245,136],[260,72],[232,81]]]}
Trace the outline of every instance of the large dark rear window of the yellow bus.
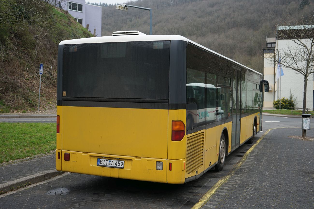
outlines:
{"label": "large dark rear window of the yellow bus", "polygon": [[170,41],[66,44],[66,97],[168,99]]}

